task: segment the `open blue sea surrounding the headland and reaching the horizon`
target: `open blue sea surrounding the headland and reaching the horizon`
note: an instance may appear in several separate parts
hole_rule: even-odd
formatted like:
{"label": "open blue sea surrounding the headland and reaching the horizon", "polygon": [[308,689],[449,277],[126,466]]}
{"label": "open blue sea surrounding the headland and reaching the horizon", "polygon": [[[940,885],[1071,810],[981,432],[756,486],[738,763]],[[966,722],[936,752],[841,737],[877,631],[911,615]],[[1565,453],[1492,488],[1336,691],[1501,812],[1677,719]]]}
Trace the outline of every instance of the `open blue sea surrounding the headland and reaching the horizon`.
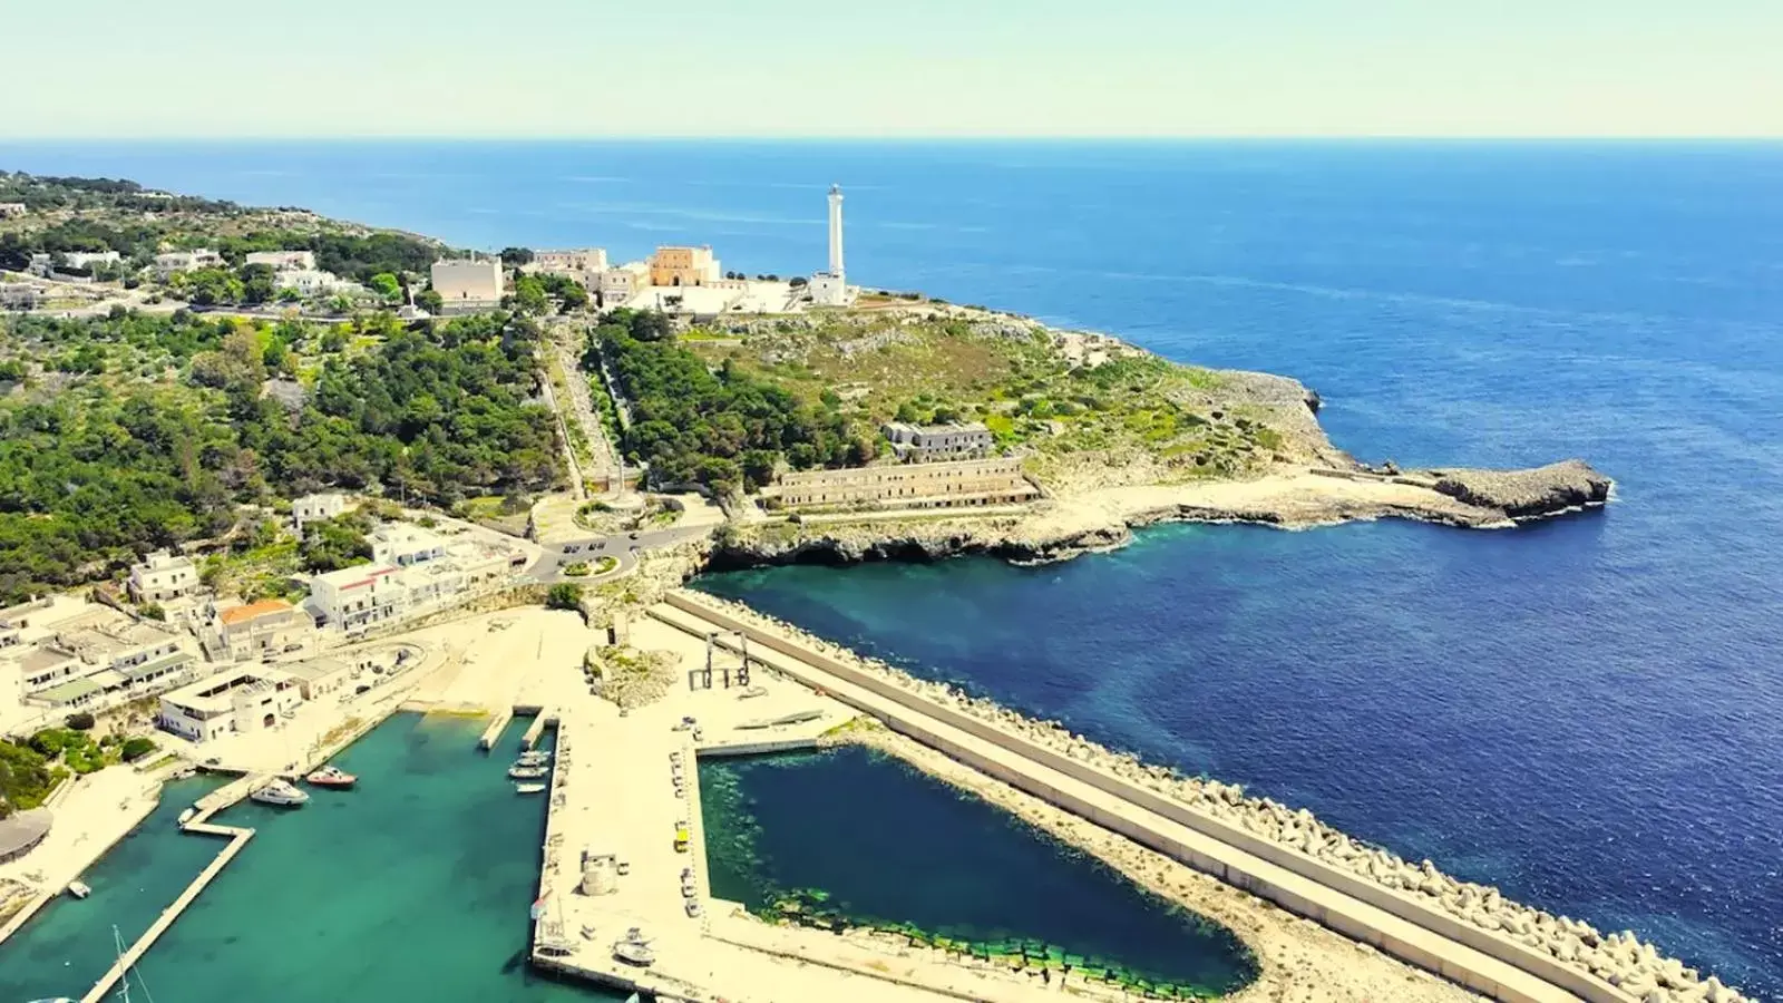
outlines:
{"label": "open blue sea surrounding the headland and reaching the horizon", "polygon": [[460,246],[711,243],[1298,377],[1400,464],[1583,457],[1514,532],[1173,526],[713,578],[820,634],[1631,926],[1783,999],[1783,145],[162,143],[0,164]]}

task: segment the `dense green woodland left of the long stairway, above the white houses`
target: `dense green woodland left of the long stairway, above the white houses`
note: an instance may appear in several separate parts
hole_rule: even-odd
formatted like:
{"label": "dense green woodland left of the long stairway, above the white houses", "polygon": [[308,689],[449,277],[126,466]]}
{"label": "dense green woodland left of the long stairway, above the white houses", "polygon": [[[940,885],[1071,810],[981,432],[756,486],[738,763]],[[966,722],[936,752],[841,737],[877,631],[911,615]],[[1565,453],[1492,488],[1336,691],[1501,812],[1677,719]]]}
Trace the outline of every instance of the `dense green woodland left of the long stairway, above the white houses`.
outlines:
{"label": "dense green woodland left of the long stairway, above the white houses", "polygon": [[323,487],[440,505],[551,487],[537,343],[506,314],[0,319],[0,601]]}

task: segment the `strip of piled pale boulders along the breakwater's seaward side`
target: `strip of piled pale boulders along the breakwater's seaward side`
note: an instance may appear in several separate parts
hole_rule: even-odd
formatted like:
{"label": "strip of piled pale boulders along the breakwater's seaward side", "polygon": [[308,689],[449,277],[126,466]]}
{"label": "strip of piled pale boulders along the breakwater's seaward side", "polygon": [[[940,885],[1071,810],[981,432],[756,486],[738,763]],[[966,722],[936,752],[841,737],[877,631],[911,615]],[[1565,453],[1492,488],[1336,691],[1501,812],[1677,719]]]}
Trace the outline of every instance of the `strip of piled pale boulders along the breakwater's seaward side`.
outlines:
{"label": "strip of piled pale boulders along the breakwater's seaward side", "polygon": [[1184,776],[1164,766],[1145,764],[1073,734],[1056,721],[1034,721],[959,689],[920,680],[884,662],[865,659],[849,648],[815,637],[790,623],[756,612],[742,603],[701,594],[701,601],[724,612],[756,621],[795,637],[818,651],[847,660],[899,687],[922,692],[963,714],[1047,746],[1059,755],[1097,766],[1161,796],[1180,801],[1228,825],[1341,867],[1400,894],[1423,898],[1458,921],[1492,932],[1542,951],[1555,960],[1617,987],[1639,1003],[1740,1003],[1747,999],[1715,976],[1703,976],[1678,958],[1662,955],[1633,932],[1605,933],[1590,923],[1553,916],[1507,899],[1496,887],[1460,882],[1441,873],[1434,862],[1409,862],[1389,850],[1357,841],[1321,823],[1307,808],[1291,808],[1269,798],[1246,796],[1237,783],[1202,776]]}

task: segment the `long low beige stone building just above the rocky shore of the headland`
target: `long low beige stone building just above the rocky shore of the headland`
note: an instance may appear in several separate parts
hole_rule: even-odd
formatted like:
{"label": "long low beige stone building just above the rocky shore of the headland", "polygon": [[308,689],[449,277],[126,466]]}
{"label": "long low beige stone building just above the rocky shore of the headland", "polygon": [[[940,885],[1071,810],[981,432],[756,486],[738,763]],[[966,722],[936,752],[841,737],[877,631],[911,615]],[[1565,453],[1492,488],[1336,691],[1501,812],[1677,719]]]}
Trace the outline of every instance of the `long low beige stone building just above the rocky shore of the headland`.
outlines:
{"label": "long low beige stone building just above the rocky shore of the headland", "polygon": [[788,509],[963,509],[1032,502],[1039,489],[1022,473],[1022,460],[997,457],[786,473],[768,496]]}

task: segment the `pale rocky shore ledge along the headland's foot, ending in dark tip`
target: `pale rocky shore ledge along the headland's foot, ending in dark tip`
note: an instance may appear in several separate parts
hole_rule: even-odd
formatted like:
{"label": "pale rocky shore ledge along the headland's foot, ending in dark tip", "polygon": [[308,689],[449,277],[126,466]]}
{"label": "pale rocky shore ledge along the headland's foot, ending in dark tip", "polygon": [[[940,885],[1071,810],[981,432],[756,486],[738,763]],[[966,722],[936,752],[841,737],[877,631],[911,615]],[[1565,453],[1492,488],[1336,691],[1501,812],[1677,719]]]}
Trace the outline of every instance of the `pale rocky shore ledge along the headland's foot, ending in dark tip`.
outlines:
{"label": "pale rocky shore ledge along the headland's foot, ending in dark tip", "polygon": [[1608,477],[1583,460],[1516,471],[1298,468],[1250,482],[1113,487],[993,516],[859,512],[768,523],[720,534],[708,568],[941,560],[970,553],[1047,564],[1127,546],[1132,530],[1159,523],[1309,528],[1393,518],[1508,528],[1601,509],[1612,487]]}

